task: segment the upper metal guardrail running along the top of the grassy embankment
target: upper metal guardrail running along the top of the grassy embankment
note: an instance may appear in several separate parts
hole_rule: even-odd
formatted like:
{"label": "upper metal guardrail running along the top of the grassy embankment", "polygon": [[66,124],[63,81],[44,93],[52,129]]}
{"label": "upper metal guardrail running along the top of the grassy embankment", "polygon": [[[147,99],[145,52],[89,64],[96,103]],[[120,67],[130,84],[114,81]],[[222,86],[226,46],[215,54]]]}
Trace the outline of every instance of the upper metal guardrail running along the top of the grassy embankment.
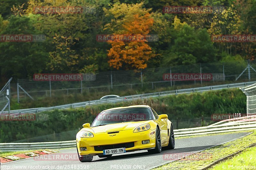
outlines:
{"label": "upper metal guardrail running along the top of the grassy embankment", "polygon": [[[196,87],[196,88],[172,90],[172,91],[165,91],[165,92],[137,94],[137,95],[118,97],[118,98],[114,98],[114,99],[92,100],[92,101],[72,103],[72,104],[66,104],[66,105],[60,105],[60,106],[54,106],[54,107],[41,107],[41,108],[11,110],[10,113],[11,114],[39,113],[39,112],[50,111],[50,110],[54,110],[54,109],[78,108],[78,107],[86,107],[86,106],[90,106],[90,105],[98,105],[98,104],[116,103],[116,102],[123,102],[123,101],[146,99],[146,98],[151,98],[151,97],[161,97],[161,96],[177,95],[177,94],[183,94],[183,93],[204,92],[204,91],[210,91],[210,90],[221,90],[221,89],[226,89],[226,88],[236,88],[236,87],[252,85],[254,83],[256,83],[256,82],[253,81],[253,82],[235,83],[235,84],[227,84],[227,85],[213,85],[213,86]],[[7,112],[4,112],[4,113],[7,113]]]}

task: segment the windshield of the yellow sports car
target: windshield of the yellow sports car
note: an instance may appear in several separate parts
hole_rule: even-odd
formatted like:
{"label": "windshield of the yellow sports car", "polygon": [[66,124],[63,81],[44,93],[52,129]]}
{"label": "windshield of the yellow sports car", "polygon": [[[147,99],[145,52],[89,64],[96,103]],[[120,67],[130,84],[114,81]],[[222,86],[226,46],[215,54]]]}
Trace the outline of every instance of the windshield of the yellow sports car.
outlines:
{"label": "windshield of the yellow sports car", "polygon": [[112,123],[146,121],[152,119],[152,114],[148,107],[116,109],[101,112],[92,123],[92,127]]}

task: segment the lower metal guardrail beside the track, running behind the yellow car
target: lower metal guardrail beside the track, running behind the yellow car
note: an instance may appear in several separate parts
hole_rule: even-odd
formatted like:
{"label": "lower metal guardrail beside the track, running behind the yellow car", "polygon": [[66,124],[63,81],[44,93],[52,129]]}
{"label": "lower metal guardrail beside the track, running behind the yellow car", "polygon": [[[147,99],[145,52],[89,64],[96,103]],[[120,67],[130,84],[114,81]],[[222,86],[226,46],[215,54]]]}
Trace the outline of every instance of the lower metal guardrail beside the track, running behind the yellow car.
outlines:
{"label": "lower metal guardrail beside the track, running behind the yellow car", "polygon": [[[245,119],[245,122],[240,120]],[[255,121],[248,120],[246,117],[234,121],[235,124],[222,124],[214,126],[205,126],[198,128],[188,129],[174,129],[175,137],[189,137],[189,136],[200,136],[219,134],[225,132],[238,132],[244,130],[256,129],[256,116]],[[247,122],[247,120],[249,122]],[[32,149],[56,149],[56,148],[74,148],[76,147],[76,140],[72,141],[61,141],[61,142],[36,142],[36,143],[2,143],[0,144],[0,151],[21,151],[21,150],[32,150]]]}

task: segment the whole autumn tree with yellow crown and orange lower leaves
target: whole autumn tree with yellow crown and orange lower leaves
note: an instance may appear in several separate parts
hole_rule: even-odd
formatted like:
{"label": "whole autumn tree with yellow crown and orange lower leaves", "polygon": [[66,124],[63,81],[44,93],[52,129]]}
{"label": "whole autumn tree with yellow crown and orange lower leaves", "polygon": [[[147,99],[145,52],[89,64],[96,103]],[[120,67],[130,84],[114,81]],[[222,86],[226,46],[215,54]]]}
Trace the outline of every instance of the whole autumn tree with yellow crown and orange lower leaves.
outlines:
{"label": "whole autumn tree with yellow crown and orange lower leaves", "polygon": [[[145,37],[153,26],[153,18],[150,17],[149,10],[143,9],[142,5],[116,3],[111,9],[105,9],[106,15],[113,17],[105,29],[113,31],[116,36],[122,34]],[[145,69],[148,60],[155,56],[145,39],[128,42],[116,39],[108,43],[112,46],[108,50],[108,63],[117,70]]]}

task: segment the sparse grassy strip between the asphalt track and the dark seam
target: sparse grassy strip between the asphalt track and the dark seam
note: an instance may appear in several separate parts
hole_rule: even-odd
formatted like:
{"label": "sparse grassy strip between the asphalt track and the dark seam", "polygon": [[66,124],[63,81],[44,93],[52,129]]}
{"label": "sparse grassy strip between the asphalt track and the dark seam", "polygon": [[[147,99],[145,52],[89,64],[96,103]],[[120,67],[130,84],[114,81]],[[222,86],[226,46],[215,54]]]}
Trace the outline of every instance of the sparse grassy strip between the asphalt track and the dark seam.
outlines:
{"label": "sparse grassy strip between the asphalt track and the dark seam", "polygon": [[[256,143],[256,131],[246,137],[206,149],[202,152],[187,156],[177,161],[173,161],[163,166],[159,166],[155,169],[202,169],[215,160],[244,150],[247,146],[254,143]],[[200,157],[202,155],[206,155],[207,157]],[[195,157],[199,159],[194,159]]]}

